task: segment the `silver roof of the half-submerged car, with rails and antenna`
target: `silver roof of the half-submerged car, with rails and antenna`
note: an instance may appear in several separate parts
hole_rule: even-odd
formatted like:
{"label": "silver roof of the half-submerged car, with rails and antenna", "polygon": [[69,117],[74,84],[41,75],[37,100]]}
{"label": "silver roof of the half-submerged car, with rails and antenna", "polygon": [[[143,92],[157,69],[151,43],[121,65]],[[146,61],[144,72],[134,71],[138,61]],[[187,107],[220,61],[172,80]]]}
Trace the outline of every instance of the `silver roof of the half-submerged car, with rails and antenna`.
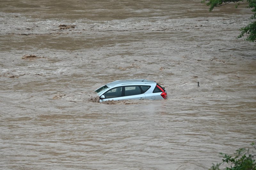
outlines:
{"label": "silver roof of the half-submerged car, with rails and antenna", "polygon": [[129,80],[117,80],[111,83],[106,84],[109,88],[117,87],[117,86],[125,86],[125,85],[152,85],[156,84],[155,81],[148,81],[145,79],[129,79]]}

